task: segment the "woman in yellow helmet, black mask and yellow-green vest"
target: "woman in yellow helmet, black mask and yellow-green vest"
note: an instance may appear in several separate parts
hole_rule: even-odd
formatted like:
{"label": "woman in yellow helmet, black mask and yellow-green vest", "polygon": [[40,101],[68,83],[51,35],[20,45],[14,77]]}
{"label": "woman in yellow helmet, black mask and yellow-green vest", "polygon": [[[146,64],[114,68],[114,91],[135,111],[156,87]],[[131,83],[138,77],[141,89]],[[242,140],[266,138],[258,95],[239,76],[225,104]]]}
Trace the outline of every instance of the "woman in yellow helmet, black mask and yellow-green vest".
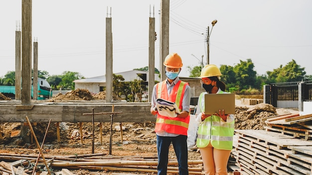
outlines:
{"label": "woman in yellow helmet, black mask and yellow-green vest", "polygon": [[200,74],[200,83],[205,89],[199,95],[196,109],[196,121],[199,122],[196,144],[204,165],[205,175],[227,175],[227,162],[233,148],[234,114],[204,114],[204,94],[228,93],[222,76],[215,65],[206,65]]}

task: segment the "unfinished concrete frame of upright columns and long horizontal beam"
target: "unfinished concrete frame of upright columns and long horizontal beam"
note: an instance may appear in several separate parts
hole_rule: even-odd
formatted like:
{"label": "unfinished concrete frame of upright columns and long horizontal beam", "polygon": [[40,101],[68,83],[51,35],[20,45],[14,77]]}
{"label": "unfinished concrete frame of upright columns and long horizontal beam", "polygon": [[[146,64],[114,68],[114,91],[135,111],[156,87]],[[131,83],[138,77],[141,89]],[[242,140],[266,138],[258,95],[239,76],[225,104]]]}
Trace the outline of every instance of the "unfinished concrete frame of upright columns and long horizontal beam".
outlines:
{"label": "unfinished concrete frame of upright columns and long horizontal beam", "polygon": [[[162,2],[163,1],[163,2]],[[166,20],[161,20],[161,36],[168,38],[168,13],[169,13],[169,0],[161,0],[161,11],[165,13],[162,15]],[[31,122],[36,121],[52,121],[55,122],[91,122],[91,117],[83,116],[84,113],[90,113],[94,108],[95,112],[111,112],[112,106],[115,106],[115,111],[122,111],[122,114],[116,114],[114,117],[115,122],[144,122],[155,121],[156,117],[150,113],[150,103],[112,103],[112,74],[113,74],[113,41],[112,41],[112,18],[106,18],[106,101],[92,101],[92,102],[48,102],[31,100],[31,55],[32,55],[32,13],[31,0],[22,0],[22,72],[21,72],[21,100],[0,101],[0,122],[25,122],[27,116]],[[162,18],[163,18],[162,17]],[[153,32],[154,30],[154,32]],[[154,33],[154,34],[153,34]],[[153,37],[151,35],[154,35]],[[161,37],[160,36],[160,37]],[[20,42],[18,32],[16,35],[16,43]],[[153,38],[153,39],[151,39]],[[155,21],[150,18],[150,51],[149,51],[149,70],[154,75],[155,65]],[[168,54],[168,39],[161,39],[161,61]],[[18,46],[18,44],[17,44]],[[165,46],[165,47],[164,47]],[[18,47],[16,47],[18,49]],[[37,50],[35,50],[37,52]],[[18,59],[19,52],[16,53]],[[18,66],[18,62],[16,62]],[[37,64],[37,63],[36,63]],[[151,68],[151,65],[153,68]],[[18,73],[19,66],[16,68]],[[163,72],[161,74],[164,74]],[[152,76],[153,77],[153,76]],[[20,80],[20,78],[17,77]],[[164,79],[162,77],[162,79]],[[111,81],[111,82],[109,82]],[[18,94],[18,93],[17,93]],[[19,99],[17,97],[16,99]],[[105,115],[98,115],[94,118],[95,122],[109,121],[110,117]]]}

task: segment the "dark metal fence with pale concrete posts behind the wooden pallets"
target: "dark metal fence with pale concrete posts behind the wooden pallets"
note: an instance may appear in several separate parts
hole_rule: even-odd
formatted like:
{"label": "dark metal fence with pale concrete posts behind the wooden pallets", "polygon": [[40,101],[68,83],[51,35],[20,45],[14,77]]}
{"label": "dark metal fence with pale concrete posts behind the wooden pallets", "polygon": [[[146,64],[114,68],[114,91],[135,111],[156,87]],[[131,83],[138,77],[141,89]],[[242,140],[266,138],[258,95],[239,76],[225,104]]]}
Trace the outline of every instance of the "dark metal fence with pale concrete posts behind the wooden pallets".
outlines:
{"label": "dark metal fence with pale concrete posts behind the wooden pallets", "polygon": [[265,103],[302,111],[303,102],[312,101],[312,81],[265,85],[264,94]]}

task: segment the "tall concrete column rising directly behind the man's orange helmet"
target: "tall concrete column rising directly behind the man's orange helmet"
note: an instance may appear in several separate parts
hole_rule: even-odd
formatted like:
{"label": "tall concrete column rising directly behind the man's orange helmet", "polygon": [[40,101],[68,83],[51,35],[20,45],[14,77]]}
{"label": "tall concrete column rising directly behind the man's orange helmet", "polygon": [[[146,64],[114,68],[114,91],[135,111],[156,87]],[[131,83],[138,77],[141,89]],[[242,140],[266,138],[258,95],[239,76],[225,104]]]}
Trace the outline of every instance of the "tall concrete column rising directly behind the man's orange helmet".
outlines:
{"label": "tall concrete column rising directly behind the man's orange helmet", "polygon": [[160,2],[160,81],[166,79],[163,62],[169,54],[169,2]]}

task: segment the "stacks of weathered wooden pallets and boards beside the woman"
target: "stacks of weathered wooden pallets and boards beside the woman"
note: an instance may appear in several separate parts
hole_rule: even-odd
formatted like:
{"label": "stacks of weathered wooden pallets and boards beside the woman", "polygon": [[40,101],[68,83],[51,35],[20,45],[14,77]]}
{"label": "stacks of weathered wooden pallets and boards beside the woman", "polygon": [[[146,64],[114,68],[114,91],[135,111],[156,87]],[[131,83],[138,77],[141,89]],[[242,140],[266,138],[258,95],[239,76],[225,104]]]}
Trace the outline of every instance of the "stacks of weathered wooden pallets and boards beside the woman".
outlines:
{"label": "stacks of weathered wooden pallets and boards beside the woman", "polygon": [[265,120],[266,130],[235,130],[233,154],[242,175],[312,175],[312,114]]}

